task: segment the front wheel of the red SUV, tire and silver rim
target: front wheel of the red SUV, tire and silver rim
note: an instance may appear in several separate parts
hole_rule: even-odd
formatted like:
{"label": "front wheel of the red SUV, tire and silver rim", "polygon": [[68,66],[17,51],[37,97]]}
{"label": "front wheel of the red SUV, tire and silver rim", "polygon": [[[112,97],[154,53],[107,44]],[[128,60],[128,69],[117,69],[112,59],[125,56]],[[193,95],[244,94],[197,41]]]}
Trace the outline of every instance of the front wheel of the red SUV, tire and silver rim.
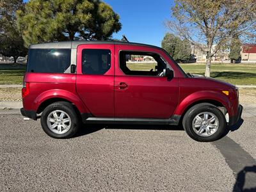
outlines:
{"label": "front wheel of the red SUV, tire and silver rim", "polygon": [[225,133],[225,116],[209,103],[196,104],[188,109],[182,121],[188,135],[196,141],[215,141]]}

